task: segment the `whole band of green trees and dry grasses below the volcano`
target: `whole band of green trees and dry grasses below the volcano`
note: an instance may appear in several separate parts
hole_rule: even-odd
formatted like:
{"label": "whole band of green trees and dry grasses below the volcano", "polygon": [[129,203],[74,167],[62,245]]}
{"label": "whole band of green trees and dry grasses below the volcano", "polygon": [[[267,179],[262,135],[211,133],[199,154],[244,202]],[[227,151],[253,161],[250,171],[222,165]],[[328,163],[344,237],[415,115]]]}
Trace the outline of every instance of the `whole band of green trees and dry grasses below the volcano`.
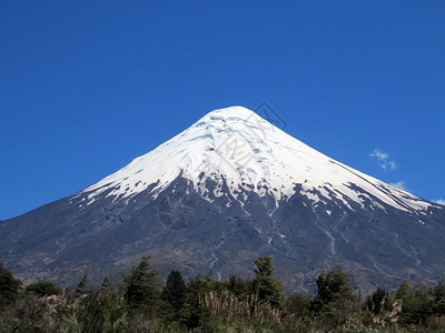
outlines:
{"label": "whole band of green trees and dry grasses below the volcano", "polygon": [[50,282],[22,287],[0,262],[0,332],[445,332],[445,284],[377,289],[362,299],[340,268],[317,279],[317,294],[283,294],[271,259],[255,260],[251,280],[211,273],[164,283],[142,261],[122,283],[76,290]]}

